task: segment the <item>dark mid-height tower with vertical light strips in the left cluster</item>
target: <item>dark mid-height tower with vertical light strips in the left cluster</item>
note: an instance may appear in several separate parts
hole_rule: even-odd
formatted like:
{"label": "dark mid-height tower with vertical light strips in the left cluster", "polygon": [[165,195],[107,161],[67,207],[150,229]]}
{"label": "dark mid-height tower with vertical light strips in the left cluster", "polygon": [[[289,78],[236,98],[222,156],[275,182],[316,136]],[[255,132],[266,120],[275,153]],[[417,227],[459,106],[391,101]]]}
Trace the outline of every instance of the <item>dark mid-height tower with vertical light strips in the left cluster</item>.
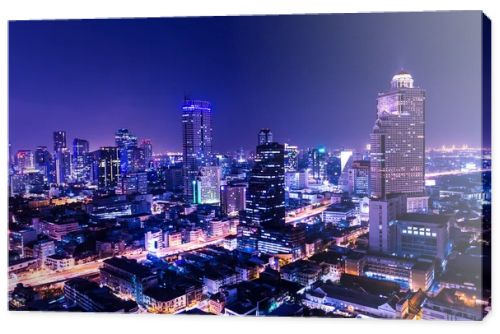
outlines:
{"label": "dark mid-height tower with vertical light strips in the left cluster", "polygon": [[118,147],[101,147],[96,151],[95,167],[99,189],[114,189],[120,176],[120,158]]}

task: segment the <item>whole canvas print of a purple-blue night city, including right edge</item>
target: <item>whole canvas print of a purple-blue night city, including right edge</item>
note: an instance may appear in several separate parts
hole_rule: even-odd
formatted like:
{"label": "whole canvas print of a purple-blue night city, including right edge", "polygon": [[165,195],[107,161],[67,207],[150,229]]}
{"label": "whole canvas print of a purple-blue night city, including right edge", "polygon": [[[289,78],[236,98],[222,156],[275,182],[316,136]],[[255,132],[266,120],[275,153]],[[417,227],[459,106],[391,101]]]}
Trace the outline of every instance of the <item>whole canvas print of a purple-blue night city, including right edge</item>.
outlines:
{"label": "whole canvas print of a purple-blue night city, including right edge", "polygon": [[482,320],[490,39],[480,11],[10,21],[9,309]]}

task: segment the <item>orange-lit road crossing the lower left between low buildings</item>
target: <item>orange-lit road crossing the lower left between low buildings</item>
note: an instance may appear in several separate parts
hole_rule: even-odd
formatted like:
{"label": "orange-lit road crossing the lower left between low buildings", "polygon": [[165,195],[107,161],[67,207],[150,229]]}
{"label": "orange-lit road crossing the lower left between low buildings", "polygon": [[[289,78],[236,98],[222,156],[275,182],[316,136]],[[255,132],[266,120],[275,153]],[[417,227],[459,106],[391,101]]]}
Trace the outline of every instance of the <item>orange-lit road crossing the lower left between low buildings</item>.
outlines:
{"label": "orange-lit road crossing the lower left between low buildings", "polygon": [[[209,245],[220,243],[224,240],[225,236],[212,237],[203,242],[197,243],[186,243],[175,247],[169,247],[165,249],[162,256],[175,255],[182,252],[192,251],[195,249],[200,249]],[[147,252],[141,253],[124,253],[122,256],[126,256],[129,259],[134,259],[139,262],[146,260]],[[99,268],[102,265],[104,259],[99,259],[97,261],[87,262],[79,265],[75,265],[71,268],[61,270],[61,271],[51,271],[48,269],[39,270],[36,272],[31,272],[24,275],[19,275],[17,278],[9,278],[9,291],[14,290],[18,283],[23,283],[27,286],[40,286],[47,285],[57,282],[66,281],[71,278],[91,275],[99,272]]]}

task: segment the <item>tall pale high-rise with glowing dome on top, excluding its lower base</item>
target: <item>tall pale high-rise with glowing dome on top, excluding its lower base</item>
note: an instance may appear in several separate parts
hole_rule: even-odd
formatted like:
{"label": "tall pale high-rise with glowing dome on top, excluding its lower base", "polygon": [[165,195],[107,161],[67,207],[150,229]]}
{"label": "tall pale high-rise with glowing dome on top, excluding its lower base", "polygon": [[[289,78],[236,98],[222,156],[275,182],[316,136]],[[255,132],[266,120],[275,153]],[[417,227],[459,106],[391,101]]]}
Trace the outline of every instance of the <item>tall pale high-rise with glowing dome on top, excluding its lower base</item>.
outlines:
{"label": "tall pale high-rise with glowing dome on top, excluding its lower base", "polygon": [[425,91],[412,76],[396,74],[391,89],[377,99],[377,120],[370,136],[371,195],[407,197],[425,192]]}

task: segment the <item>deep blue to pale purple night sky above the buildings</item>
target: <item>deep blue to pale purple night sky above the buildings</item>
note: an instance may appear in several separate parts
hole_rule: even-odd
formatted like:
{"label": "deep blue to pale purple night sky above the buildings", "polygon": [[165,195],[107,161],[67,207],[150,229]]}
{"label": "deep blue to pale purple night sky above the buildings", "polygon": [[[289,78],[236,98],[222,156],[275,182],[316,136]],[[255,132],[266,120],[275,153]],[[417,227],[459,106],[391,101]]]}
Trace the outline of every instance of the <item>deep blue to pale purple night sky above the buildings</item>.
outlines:
{"label": "deep blue to pale purple night sky above the buildings", "polygon": [[280,142],[361,149],[377,93],[409,71],[427,92],[426,146],[481,145],[481,12],[15,21],[9,142],[52,132],[114,145],[128,128],[181,151],[185,95],[213,106],[214,150]]}

